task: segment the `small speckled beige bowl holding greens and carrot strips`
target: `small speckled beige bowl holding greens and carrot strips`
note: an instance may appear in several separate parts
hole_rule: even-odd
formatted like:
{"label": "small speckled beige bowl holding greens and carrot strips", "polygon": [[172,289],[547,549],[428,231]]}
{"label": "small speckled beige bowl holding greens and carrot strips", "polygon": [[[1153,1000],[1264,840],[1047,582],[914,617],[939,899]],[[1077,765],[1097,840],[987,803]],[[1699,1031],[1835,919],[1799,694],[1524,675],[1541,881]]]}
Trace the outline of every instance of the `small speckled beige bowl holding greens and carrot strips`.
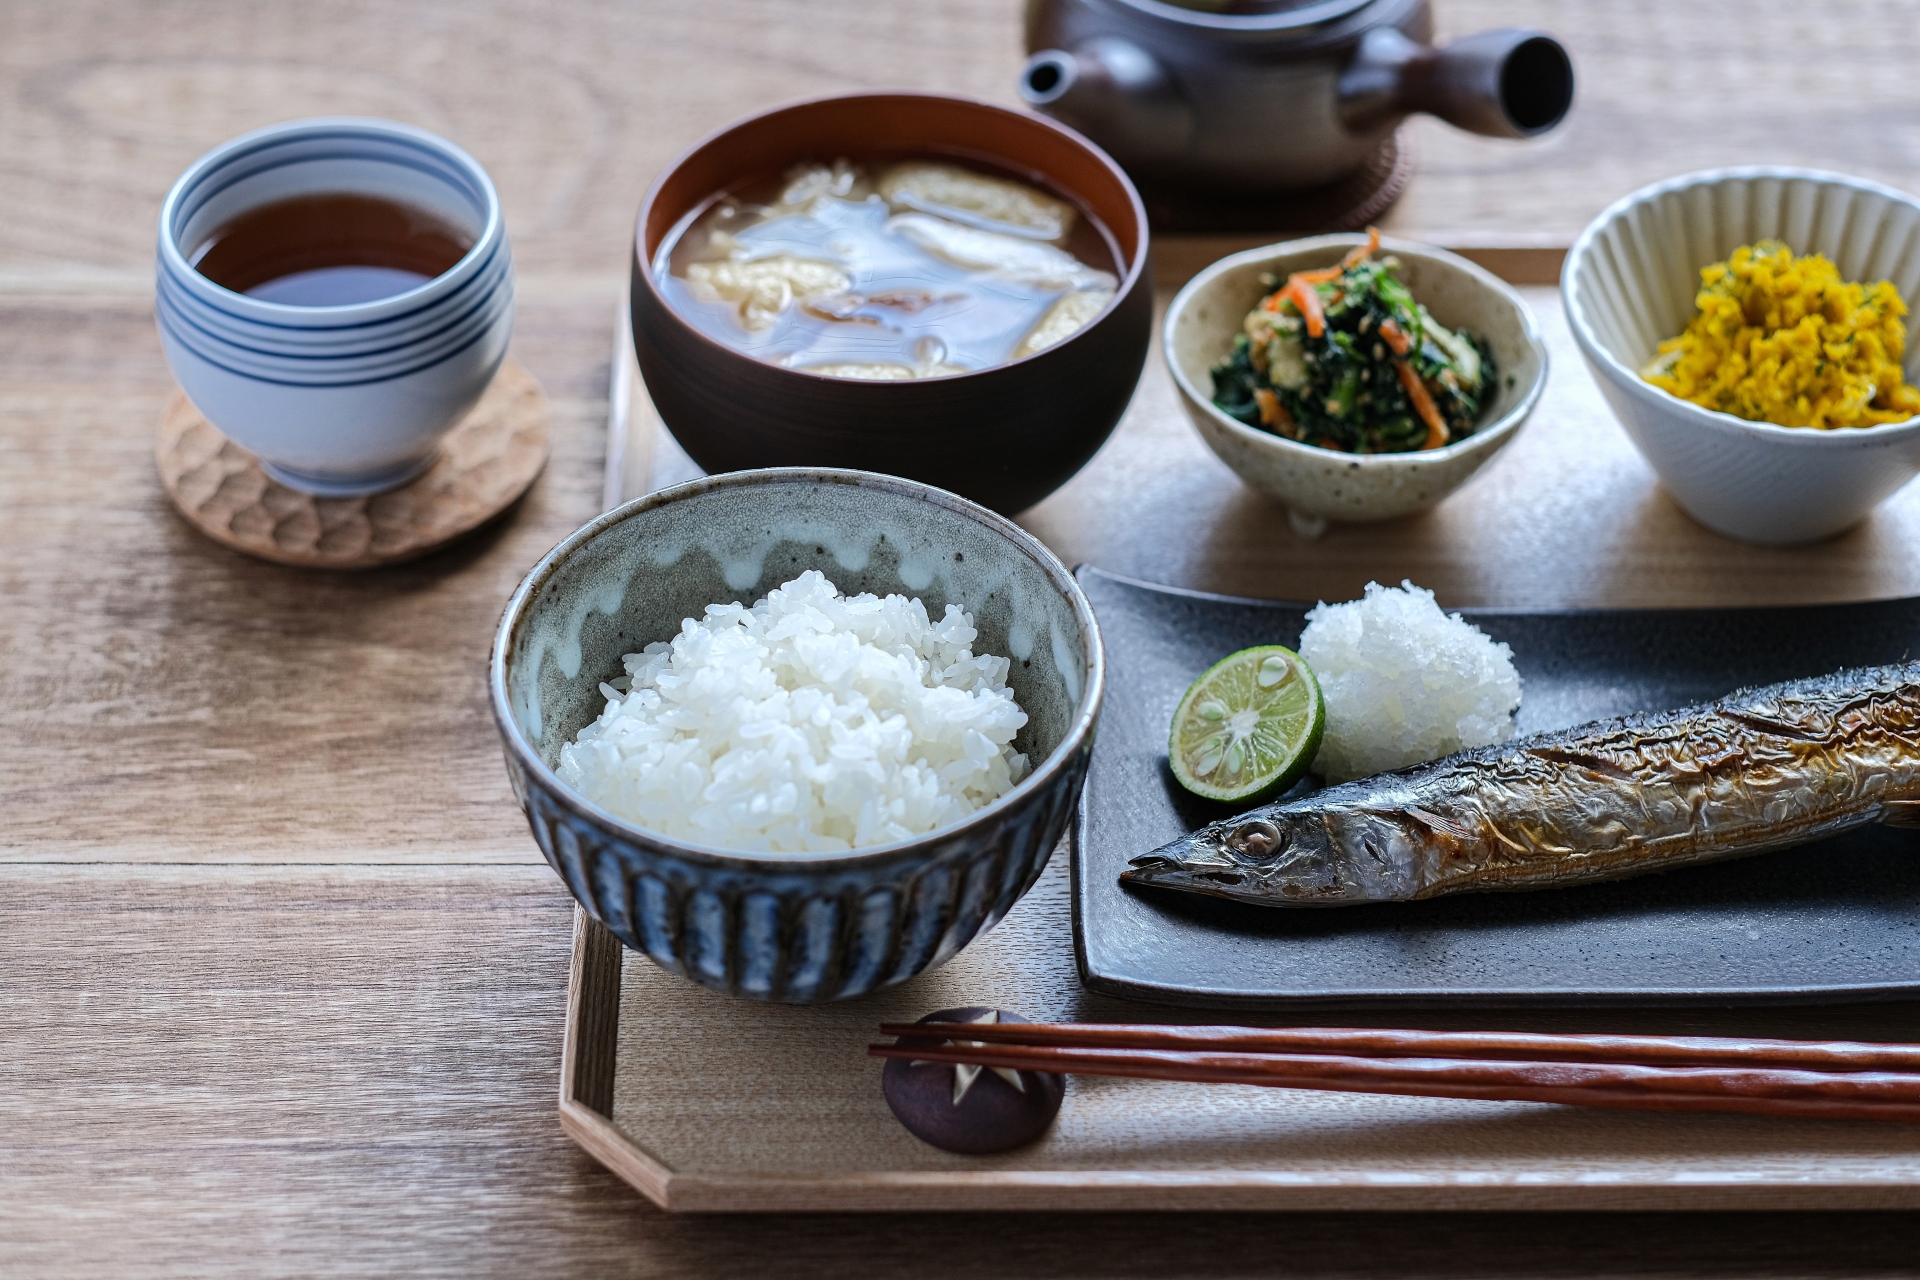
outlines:
{"label": "small speckled beige bowl holding greens and carrot strips", "polygon": [[1467,482],[1511,441],[1548,384],[1548,349],[1521,296],[1492,273],[1430,246],[1382,238],[1400,257],[1400,278],[1448,328],[1473,330],[1494,349],[1500,393],[1473,436],[1442,449],[1354,457],[1302,445],[1238,422],[1213,407],[1212,368],[1233,349],[1246,313],[1273,292],[1261,276],[1336,265],[1365,236],[1313,236],[1248,249],[1213,263],[1167,307],[1162,336],[1167,370],[1200,438],[1240,480],[1281,499],[1296,524],[1392,520]]}

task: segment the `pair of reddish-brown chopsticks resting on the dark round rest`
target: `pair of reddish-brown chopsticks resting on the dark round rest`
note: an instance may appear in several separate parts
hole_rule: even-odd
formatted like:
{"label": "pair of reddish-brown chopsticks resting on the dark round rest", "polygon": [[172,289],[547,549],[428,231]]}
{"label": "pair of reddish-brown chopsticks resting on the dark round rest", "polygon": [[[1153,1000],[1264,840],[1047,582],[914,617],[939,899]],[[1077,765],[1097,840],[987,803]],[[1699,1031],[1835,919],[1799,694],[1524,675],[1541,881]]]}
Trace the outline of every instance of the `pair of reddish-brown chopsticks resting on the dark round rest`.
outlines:
{"label": "pair of reddish-brown chopsticks resting on the dark round rest", "polygon": [[874,1057],[1356,1094],[1920,1123],[1920,1046],[1709,1036],[885,1023]]}

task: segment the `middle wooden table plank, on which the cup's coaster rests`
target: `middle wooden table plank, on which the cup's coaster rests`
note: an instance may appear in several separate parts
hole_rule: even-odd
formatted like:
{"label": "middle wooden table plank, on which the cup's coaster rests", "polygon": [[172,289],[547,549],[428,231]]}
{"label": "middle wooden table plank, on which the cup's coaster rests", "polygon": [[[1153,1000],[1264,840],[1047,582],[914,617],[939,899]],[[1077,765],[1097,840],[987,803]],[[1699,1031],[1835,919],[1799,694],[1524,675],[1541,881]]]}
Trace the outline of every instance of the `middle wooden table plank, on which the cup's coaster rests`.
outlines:
{"label": "middle wooden table plank, on which the cup's coaster rests", "polygon": [[547,470],[474,537],[346,574],[175,514],[144,301],[0,297],[0,862],[538,862],[486,654],[520,576],[599,509],[611,313],[522,292]]}

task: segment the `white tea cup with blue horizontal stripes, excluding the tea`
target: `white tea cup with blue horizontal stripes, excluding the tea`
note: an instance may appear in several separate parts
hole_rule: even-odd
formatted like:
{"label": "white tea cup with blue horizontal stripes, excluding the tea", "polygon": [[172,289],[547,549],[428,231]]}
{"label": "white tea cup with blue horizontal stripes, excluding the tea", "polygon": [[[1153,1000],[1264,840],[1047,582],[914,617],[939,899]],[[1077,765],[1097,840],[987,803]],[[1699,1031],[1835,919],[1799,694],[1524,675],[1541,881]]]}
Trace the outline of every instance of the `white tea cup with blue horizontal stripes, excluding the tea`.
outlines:
{"label": "white tea cup with blue horizontal stripes, excluding the tea", "polygon": [[[236,294],[188,263],[240,213],[332,192],[426,207],[474,244],[417,288],[342,307]],[[472,155],[411,125],[328,117],[244,134],[167,194],[156,315],[180,388],[276,480],[326,495],[405,484],[507,355],[513,261],[499,196]]]}

